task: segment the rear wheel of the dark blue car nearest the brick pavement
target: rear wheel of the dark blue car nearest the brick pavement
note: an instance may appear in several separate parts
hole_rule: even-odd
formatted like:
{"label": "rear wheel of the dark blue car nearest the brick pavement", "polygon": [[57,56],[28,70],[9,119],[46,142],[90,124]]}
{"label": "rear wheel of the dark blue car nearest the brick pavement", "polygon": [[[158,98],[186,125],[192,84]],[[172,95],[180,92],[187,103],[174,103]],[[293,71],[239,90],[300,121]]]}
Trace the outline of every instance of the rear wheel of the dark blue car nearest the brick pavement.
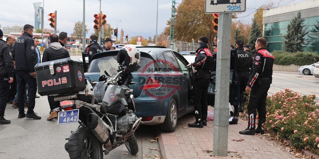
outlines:
{"label": "rear wheel of the dark blue car nearest the brick pavement", "polygon": [[171,98],[168,102],[167,112],[164,123],[159,125],[159,128],[164,132],[173,132],[177,125],[177,104],[176,101]]}

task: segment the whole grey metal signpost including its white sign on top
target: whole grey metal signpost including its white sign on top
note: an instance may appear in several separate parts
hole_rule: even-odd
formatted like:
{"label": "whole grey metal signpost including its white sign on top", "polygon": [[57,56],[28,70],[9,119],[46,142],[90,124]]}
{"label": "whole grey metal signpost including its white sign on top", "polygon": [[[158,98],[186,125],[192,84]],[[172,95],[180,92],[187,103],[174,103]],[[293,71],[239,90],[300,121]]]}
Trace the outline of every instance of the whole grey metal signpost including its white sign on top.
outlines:
{"label": "whole grey metal signpost including its white sign on top", "polygon": [[205,0],[205,13],[219,14],[216,60],[213,156],[227,156],[229,125],[229,69],[232,13],[244,12],[246,0]]}

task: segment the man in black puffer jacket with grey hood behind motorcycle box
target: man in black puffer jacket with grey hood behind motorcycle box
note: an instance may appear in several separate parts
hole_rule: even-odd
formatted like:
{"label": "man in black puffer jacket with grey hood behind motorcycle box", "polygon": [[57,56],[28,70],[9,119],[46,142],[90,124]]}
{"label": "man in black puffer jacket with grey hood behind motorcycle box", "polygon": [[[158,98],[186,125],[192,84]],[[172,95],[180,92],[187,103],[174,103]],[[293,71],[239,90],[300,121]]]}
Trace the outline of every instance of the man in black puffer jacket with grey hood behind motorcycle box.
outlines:
{"label": "man in black puffer jacket with grey hood behind motorcycle box", "polygon": [[[46,48],[42,55],[42,62],[53,61],[57,59],[69,58],[70,54],[68,50],[59,43],[59,37],[55,34],[50,36],[50,45]],[[54,101],[54,96],[48,96],[48,101],[51,109],[50,116],[47,120],[53,120],[58,118],[58,114],[53,109],[60,107],[60,103]]]}

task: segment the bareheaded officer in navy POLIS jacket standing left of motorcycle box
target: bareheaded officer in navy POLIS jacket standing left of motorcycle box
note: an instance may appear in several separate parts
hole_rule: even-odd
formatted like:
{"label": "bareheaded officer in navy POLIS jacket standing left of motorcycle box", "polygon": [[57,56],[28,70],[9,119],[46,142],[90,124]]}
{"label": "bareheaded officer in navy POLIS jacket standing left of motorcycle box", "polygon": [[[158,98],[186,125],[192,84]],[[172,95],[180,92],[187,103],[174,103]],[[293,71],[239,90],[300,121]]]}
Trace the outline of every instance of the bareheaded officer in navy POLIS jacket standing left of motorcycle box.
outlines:
{"label": "bareheaded officer in navy POLIS jacket standing left of motorcycle box", "polygon": [[[37,92],[37,81],[34,66],[38,62],[38,54],[35,51],[34,40],[32,38],[33,26],[26,24],[23,27],[23,34],[16,40],[13,49],[15,50],[16,70],[18,74],[18,118],[41,119],[33,109],[35,106],[35,95]],[[28,111],[24,113],[24,91],[28,84]]]}

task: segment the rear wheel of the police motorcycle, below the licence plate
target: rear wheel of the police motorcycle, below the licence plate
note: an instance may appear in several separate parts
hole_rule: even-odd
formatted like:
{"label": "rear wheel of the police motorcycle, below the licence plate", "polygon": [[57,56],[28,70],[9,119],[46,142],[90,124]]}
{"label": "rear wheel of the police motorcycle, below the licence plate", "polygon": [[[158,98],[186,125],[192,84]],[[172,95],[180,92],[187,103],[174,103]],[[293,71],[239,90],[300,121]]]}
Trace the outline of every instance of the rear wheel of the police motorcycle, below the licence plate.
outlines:
{"label": "rear wheel of the police motorcycle, below the licence plate", "polygon": [[[80,136],[80,137],[75,137],[75,138],[70,137],[69,142],[66,143],[66,145],[72,145],[72,146],[82,145],[82,146],[78,150],[80,151],[79,152],[80,156],[78,157],[70,156],[70,158],[72,159],[103,159],[102,144],[96,139],[96,137],[93,135],[93,133],[88,127],[78,128],[77,131],[75,131],[72,135]],[[82,142],[82,144],[79,144],[80,142]],[[70,150],[72,151],[72,149]]]}

